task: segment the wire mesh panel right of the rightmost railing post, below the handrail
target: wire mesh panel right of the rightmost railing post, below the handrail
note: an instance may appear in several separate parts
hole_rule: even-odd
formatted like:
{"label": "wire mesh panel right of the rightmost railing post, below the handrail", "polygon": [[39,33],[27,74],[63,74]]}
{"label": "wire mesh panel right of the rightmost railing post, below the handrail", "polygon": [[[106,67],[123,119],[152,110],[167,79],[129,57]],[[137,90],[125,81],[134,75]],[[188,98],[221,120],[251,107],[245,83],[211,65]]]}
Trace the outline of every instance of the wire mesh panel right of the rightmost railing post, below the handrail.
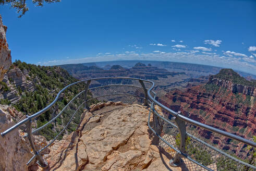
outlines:
{"label": "wire mesh panel right of the rightmost railing post, below the handrail", "polygon": [[[188,131],[193,132],[193,135],[196,138],[200,138],[200,140],[193,139],[193,136],[188,137],[189,141],[186,144],[187,154],[191,158],[212,170],[253,170],[253,168],[232,159],[234,157],[237,160],[255,166],[252,154],[253,149],[248,145],[196,126],[193,128],[195,128],[193,131]],[[204,143],[200,142],[202,140]],[[216,148],[216,150],[210,148],[209,145]]]}

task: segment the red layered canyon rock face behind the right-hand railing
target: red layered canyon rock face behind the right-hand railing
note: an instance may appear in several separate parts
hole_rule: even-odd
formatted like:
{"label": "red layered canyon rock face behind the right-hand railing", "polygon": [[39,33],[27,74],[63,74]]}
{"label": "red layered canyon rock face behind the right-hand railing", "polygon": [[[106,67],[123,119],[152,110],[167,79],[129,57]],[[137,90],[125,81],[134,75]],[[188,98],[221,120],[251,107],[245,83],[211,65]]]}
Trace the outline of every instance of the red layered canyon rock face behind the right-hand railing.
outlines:
{"label": "red layered canyon rock face behind the right-hand railing", "polygon": [[[239,76],[239,79],[242,78]],[[174,111],[181,111],[183,115],[200,123],[250,139],[256,134],[255,97],[253,83],[238,83],[234,79],[211,76],[206,84],[173,90],[161,97],[160,101]],[[188,128],[223,150],[233,151],[240,157],[246,157],[248,153],[245,144],[199,127]]]}

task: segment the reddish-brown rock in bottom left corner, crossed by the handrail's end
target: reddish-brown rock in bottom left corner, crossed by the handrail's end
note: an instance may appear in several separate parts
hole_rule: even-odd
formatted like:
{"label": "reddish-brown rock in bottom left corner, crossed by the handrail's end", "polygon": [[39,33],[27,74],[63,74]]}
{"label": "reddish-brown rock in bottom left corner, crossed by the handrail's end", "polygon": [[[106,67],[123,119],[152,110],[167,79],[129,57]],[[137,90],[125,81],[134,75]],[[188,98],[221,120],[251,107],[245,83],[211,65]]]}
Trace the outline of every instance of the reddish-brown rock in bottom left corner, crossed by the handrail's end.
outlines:
{"label": "reddish-brown rock in bottom left corner, crossed by the handrail's end", "polygon": [[[8,106],[0,107],[0,132],[15,124],[12,115],[16,115],[16,111]],[[33,154],[23,135],[23,131],[16,129],[0,138],[0,170],[28,170],[26,163]]]}

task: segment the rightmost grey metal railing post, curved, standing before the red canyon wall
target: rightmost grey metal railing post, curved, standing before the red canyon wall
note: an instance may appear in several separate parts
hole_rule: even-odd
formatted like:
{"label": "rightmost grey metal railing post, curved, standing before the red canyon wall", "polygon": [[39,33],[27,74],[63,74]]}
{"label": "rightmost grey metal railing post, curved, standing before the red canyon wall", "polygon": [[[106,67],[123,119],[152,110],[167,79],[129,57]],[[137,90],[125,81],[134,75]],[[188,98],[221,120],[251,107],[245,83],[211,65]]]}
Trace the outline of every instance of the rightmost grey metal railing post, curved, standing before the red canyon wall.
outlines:
{"label": "rightmost grey metal railing post, curved, standing before the red canyon wall", "polygon": [[[180,111],[178,112],[180,114]],[[172,167],[178,167],[181,160],[181,153],[185,153],[186,151],[186,137],[187,137],[187,131],[186,131],[186,123],[184,120],[181,120],[177,117],[175,117],[175,123],[178,126],[179,129],[179,135],[180,135],[180,145],[179,145],[179,152],[176,153],[173,160],[170,160],[169,164]]]}

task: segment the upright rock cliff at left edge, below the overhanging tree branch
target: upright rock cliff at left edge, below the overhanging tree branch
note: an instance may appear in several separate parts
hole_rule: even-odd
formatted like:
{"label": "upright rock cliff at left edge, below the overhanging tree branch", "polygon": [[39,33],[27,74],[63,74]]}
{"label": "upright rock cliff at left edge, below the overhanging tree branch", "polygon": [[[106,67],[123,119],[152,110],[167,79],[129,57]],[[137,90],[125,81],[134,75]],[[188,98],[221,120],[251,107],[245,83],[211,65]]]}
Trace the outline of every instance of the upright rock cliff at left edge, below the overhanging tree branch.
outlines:
{"label": "upright rock cliff at left edge, below the overhanging tree branch", "polygon": [[[11,56],[6,41],[7,27],[3,25],[2,16],[0,15],[0,81],[3,80],[5,72],[11,66]],[[0,84],[0,89],[2,84]]]}

